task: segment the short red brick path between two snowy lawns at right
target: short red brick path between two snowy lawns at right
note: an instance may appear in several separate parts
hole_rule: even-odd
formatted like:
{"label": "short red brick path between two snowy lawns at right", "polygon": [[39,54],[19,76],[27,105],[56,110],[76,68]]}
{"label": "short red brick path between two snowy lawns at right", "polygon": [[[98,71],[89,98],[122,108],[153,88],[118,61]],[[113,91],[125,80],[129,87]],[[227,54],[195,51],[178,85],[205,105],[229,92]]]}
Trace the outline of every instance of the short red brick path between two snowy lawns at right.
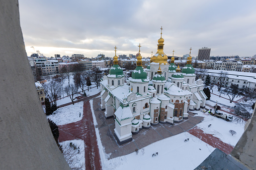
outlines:
{"label": "short red brick path between two snowy lawns at right", "polygon": [[211,146],[222,150],[223,152],[229,154],[233,150],[233,146],[221,141],[218,137],[212,134],[204,133],[204,131],[199,127],[194,127],[188,131],[190,134],[198,137],[202,141],[210,144]]}

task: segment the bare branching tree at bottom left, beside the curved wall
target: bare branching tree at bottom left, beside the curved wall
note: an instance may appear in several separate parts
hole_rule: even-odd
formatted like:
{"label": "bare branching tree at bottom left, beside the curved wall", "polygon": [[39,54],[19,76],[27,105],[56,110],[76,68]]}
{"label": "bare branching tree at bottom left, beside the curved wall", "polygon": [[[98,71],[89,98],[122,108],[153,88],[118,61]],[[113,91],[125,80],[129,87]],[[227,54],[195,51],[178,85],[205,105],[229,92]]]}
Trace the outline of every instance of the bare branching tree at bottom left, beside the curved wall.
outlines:
{"label": "bare branching tree at bottom left, beside the curved wall", "polygon": [[83,147],[76,146],[72,142],[61,145],[62,153],[71,169],[84,169],[84,163],[77,163],[80,162],[80,157],[82,157],[79,154],[82,154],[84,152],[84,149],[82,148]]}

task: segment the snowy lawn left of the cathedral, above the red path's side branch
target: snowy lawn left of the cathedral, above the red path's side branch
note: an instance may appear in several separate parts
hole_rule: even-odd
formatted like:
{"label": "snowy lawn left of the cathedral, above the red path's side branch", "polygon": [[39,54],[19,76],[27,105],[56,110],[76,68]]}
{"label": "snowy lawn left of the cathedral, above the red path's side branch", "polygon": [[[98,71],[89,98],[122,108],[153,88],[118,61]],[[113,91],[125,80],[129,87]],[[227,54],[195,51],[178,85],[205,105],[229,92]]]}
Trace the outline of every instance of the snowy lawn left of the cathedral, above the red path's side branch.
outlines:
{"label": "snowy lawn left of the cathedral, above the red path's side branch", "polygon": [[[79,113],[81,116],[79,117]],[[76,122],[82,119],[83,115],[83,102],[75,103],[74,105],[68,105],[58,108],[53,114],[47,116],[47,118],[54,121],[57,125],[68,124]]]}

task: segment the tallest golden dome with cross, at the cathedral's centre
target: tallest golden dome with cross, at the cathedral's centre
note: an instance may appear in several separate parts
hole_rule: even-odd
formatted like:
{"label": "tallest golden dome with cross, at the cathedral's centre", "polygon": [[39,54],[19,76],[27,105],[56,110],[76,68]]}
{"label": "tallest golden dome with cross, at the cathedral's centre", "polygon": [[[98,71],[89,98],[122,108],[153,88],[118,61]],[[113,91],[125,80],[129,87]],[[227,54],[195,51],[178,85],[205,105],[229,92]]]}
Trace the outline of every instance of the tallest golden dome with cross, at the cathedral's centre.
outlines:
{"label": "tallest golden dome with cross, at the cathedral's centre", "polygon": [[156,54],[152,57],[152,62],[154,63],[160,63],[160,64],[168,64],[167,63],[167,59],[168,57],[166,56],[166,54],[164,54],[163,52],[163,38],[162,38],[162,27],[160,28],[161,29],[161,37],[160,39],[158,40],[158,44],[157,44],[157,52]]}

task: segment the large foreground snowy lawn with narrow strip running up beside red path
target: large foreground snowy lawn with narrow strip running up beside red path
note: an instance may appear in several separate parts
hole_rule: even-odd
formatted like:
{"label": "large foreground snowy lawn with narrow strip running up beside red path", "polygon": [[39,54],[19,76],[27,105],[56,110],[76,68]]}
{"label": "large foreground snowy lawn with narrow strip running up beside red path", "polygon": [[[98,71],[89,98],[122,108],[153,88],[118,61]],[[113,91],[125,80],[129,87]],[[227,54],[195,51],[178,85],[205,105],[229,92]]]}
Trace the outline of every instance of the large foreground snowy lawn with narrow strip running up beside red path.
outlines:
{"label": "large foreground snowy lawn with narrow strip running up beside red path", "polygon": [[[94,124],[97,125],[93,100],[90,100],[90,104]],[[138,154],[133,152],[108,160],[109,155],[104,151],[99,129],[95,129],[103,169],[194,169],[215,149],[190,133],[184,132],[144,147],[144,154],[140,149]],[[187,138],[189,141],[185,142]],[[158,155],[152,157],[156,152]]]}

